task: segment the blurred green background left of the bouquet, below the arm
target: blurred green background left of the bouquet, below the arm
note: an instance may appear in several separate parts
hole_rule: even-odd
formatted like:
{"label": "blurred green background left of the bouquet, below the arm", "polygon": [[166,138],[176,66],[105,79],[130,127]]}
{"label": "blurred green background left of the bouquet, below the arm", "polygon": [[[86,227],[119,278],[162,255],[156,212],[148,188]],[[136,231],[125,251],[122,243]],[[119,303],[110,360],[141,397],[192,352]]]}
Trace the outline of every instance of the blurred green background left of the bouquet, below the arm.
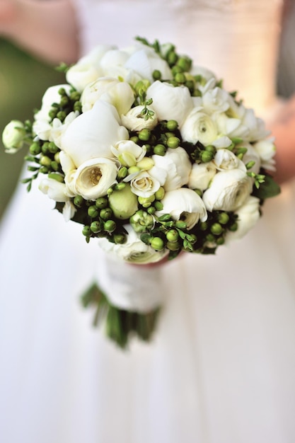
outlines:
{"label": "blurred green background left of the bouquet, below the arm", "polygon": [[[45,89],[61,83],[64,75],[54,67],[0,39],[0,134],[12,119],[32,119]],[[0,218],[18,183],[24,155],[22,150],[14,155],[5,154],[0,137]]]}

